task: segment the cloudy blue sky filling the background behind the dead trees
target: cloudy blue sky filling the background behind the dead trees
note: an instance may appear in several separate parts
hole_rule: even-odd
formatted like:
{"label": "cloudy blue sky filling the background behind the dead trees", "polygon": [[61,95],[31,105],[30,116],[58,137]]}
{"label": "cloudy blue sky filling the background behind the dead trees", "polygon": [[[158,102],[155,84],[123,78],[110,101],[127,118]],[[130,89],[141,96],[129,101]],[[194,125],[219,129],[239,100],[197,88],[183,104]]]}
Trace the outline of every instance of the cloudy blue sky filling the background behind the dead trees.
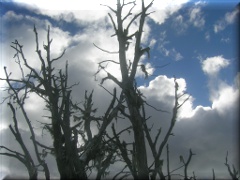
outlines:
{"label": "cloudy blue sky filling the background behind the dead trees", "polygon": [[[149,0],[145,1],[146,3]],[[110,102],[110,97],[100,86],[104,72],[93,77],[98,69],[97,63],[106,59],[116,59],[94,44],[109,51],[117,51],[116,36],[107,13],[106,6],[115,7],[113,0],[2,0],[0,28],[0,77],[4,77],[6,66],[12,77],[19,77],[11,42],[17,39],[24,45],[25,56],[33,67],[39,69],[35,53],[33,26],[39,33],[40,45],[46,42],[46,30],[50,25],[53,38],[52,56],[57,57],[66,48],[65,56],[56,64],[63,68],[69,63],[70,83],[79,82],[74,87],[73,98],[83,100],[84,91],[94,89],[94,101],[103,113],[102,102]],[[140,1],[134,12],[140,10]],[[196,156],[190,163],[189,172],[195,172],[198,178],[211,178],[214,168],[216,178],[229,177],[224,165],[226,153],[229,162],[239,169],[238,156],[238,105],[239,105],[239,37],[237,32],[237,0],[155,0],[150,8],[152,12],[146,19],[143,46],[149,46],[150,59],[141,59],[145,64],[149,78],[138,69],[136,80],[138,88],[144,93],[149,104],[170,110],[174,100],[174,81],[177,78],[181,90],[190,95],[190,99],[180,109],[178,121],[173,130],[175,136],[169,140],[171,168],[180,165],[179,155],[187,158],[191,148]],[[133,24],[131,31],[136,30]],[[133,57],[133,44],[127,52],[128,59]],[[165,66],[166,65],[166,66]],[[121,79],[119,67],[108,64],[106,70]],[[6,94],[0,81],[2,99]],[[112,90],[116,85],[106,81],[104,86]],[[107,106],[107,104],[106,104]],[[0,106],[0,144],[18,149],[9,132],[11,113],[6,103]],[[37,120],[43,119],[44,106],[40,99],[30,96],[26,109],[34,120],[36,133],[41,137],[41,128]],[[153,135],[161,126],[168,127],[169,115],[147,107],[151,115],[149,126],[154,124]],[[119,128],[128,122],[119,123]],[[27,139],[27,129],[20,123]],[[155,128],[156,127],[156,128]],[[93,127],[94,128],[94,127]],[[51,171],[57,177],[54,162]],[[114,167],[115,169],[117,167]],[[113,169],[114,169],[113,168]],[[6,174],[20,173],[26,170],[14,159],[0,156],[0,178]],[[24,174],[25,173],[25,174]],[[181,171],[179,173],[182,173]]]}

